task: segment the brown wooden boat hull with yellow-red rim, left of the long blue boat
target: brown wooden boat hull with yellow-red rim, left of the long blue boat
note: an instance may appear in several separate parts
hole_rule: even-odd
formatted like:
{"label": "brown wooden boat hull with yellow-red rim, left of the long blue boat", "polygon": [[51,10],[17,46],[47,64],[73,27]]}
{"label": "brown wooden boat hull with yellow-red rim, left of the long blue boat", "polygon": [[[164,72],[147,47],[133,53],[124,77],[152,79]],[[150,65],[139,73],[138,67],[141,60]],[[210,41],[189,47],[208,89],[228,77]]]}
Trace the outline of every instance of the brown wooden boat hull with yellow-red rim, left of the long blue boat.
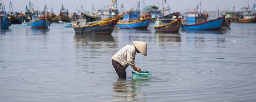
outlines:
{"label": "brown wooden boat hull with yellow-red rim, left of the long blue boat", "polygon": [[168,24],[154,26],[156,32],[179,32],[181,25],[181,19],[176,19]]}

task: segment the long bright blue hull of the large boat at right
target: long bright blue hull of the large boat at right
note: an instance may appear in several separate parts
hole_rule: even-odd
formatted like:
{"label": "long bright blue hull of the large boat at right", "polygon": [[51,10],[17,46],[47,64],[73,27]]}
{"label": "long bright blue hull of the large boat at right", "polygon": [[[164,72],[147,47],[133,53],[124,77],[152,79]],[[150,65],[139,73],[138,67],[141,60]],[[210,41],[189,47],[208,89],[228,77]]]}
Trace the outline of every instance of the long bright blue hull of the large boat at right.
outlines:
{"label": "long bright blue hull of the large boat at right", "polygon": [[197,24],[185,24],[181,26],[181,29],[185,30],[220,30],[222,27],[225,16],[213,19],[206,22],[201,22]]}

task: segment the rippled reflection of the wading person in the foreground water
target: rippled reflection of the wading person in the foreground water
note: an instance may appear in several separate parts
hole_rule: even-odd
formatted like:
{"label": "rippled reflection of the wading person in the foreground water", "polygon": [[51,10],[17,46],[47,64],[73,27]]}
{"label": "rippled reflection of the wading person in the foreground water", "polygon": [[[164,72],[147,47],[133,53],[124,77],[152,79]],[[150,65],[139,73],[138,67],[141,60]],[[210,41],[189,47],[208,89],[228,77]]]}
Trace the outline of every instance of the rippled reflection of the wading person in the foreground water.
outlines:
{"label": "rippled reflection of the wading person in the foreground water", "polygon": [[141,91],[142,86],[148,86],[149,84],[143,84],[150,79],[137,79],[137,80],[127,80],[118,78],[115,83],[113,83],[113,101],[147,101],[146,92]]}

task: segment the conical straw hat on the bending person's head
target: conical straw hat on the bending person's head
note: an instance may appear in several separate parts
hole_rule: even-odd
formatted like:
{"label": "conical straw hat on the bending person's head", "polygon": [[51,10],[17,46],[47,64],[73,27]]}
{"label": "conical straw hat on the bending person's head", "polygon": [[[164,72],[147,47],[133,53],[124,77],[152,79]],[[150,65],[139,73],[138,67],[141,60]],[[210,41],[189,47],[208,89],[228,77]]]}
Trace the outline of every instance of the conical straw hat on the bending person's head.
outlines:
{"label": "conical straw hat on the bending person's head", "polygon": [[133,41],[134,46],[140,51],[144,56],[147,56],[147,43],[142,41]]}

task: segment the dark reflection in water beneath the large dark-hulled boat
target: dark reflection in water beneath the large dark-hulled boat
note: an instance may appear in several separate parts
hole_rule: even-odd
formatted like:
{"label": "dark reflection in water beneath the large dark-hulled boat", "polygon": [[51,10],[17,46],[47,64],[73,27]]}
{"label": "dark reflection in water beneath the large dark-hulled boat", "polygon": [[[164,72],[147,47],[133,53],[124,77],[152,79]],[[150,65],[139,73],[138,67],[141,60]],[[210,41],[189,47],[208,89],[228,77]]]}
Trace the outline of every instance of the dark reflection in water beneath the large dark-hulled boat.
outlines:
{"label": "dark reflection in water beneath the large dark-hulled boat", "polygon": [[[116,45],[115,39],[111,34],[75,34],[74,41],[78,46],[111,46]],[[109,42],[109,43],[108,43]]]}

